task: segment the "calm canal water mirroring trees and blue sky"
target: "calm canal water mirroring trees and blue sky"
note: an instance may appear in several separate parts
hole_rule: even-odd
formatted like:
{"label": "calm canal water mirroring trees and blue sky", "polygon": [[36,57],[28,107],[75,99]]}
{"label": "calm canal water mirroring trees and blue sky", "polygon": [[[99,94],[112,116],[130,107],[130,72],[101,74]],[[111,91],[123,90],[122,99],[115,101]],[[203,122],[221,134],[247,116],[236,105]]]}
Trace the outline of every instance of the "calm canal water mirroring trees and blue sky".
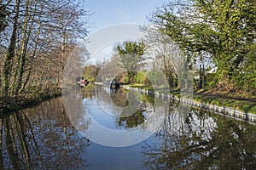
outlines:
{"label": "calm canal water mirroring trees and blue sky", "polygon": [[122,88],[88,86],[0,123],[0,169],[256,169],[255,125]]}

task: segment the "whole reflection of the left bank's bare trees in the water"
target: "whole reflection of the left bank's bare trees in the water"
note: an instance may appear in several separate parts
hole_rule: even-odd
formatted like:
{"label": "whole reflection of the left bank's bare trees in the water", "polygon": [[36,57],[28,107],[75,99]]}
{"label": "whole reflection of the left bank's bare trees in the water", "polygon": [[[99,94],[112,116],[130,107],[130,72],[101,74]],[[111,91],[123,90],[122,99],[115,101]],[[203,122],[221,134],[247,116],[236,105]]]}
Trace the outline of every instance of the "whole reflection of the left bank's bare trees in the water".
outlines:
{"label": "whole reflection of the left bank's bare trees in the water", "polygon": [[0,169],[63,169],[87,165],[89,140],[68,121],[61,98],[2,119]]}

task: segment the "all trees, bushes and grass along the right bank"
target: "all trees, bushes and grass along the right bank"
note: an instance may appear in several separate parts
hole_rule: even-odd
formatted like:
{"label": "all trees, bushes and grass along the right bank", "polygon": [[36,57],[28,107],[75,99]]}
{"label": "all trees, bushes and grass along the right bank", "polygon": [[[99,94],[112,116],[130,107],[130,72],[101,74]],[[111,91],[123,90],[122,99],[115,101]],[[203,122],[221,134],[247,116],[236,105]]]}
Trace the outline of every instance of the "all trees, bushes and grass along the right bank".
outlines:
{"label": "all trees, bushes and grass along the right bank", "polygon": [[126,70],[115,78],[152,90],[156,83],[149,80],[164,74],[173,94],[189,84],[187,91],[194,93],[195,100],[255,113],[255,8],[251,0],[163,4],[142,27],[142,41],[114,48],[110,62],[121,63]]}

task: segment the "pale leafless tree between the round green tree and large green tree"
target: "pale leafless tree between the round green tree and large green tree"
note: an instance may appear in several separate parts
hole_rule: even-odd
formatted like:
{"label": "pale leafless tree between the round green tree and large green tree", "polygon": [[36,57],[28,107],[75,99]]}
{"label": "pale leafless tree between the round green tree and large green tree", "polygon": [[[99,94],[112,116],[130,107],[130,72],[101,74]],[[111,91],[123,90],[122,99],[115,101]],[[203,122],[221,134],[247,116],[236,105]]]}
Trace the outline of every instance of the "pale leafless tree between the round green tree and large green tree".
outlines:
{"label": "pale leafless tree between the round green tree and large green tree", "polygon": [[[189,88],[189,72],[186,56],[172,39],[163,34],[157,27],[144,26],[145,42],[148,44],[148,53],[154,55],[154,65],[157,65],[165,74],[171,88]],[[178,80],[177,80],[178,79]],[[183,87],[181,87],[183,86]]]}

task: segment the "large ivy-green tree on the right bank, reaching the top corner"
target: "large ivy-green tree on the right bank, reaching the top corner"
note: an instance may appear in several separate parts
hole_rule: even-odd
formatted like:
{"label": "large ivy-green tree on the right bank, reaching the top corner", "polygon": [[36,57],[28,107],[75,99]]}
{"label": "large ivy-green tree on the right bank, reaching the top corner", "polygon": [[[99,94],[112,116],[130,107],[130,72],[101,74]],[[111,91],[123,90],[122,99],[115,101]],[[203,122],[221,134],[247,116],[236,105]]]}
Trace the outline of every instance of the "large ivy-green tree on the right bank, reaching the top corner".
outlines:
{"label": "large ivy-green tree on the right bank, reaching the top corner", "polygon": [[[158,9],[151,21],[172,38],[189,59],[210,56],[218,66],[219,89],[255,89],[244,86],[255,74],[256,5],[252,0],[191,0],[169,3]],[[246,75],[246,76],[245,76]]]}

